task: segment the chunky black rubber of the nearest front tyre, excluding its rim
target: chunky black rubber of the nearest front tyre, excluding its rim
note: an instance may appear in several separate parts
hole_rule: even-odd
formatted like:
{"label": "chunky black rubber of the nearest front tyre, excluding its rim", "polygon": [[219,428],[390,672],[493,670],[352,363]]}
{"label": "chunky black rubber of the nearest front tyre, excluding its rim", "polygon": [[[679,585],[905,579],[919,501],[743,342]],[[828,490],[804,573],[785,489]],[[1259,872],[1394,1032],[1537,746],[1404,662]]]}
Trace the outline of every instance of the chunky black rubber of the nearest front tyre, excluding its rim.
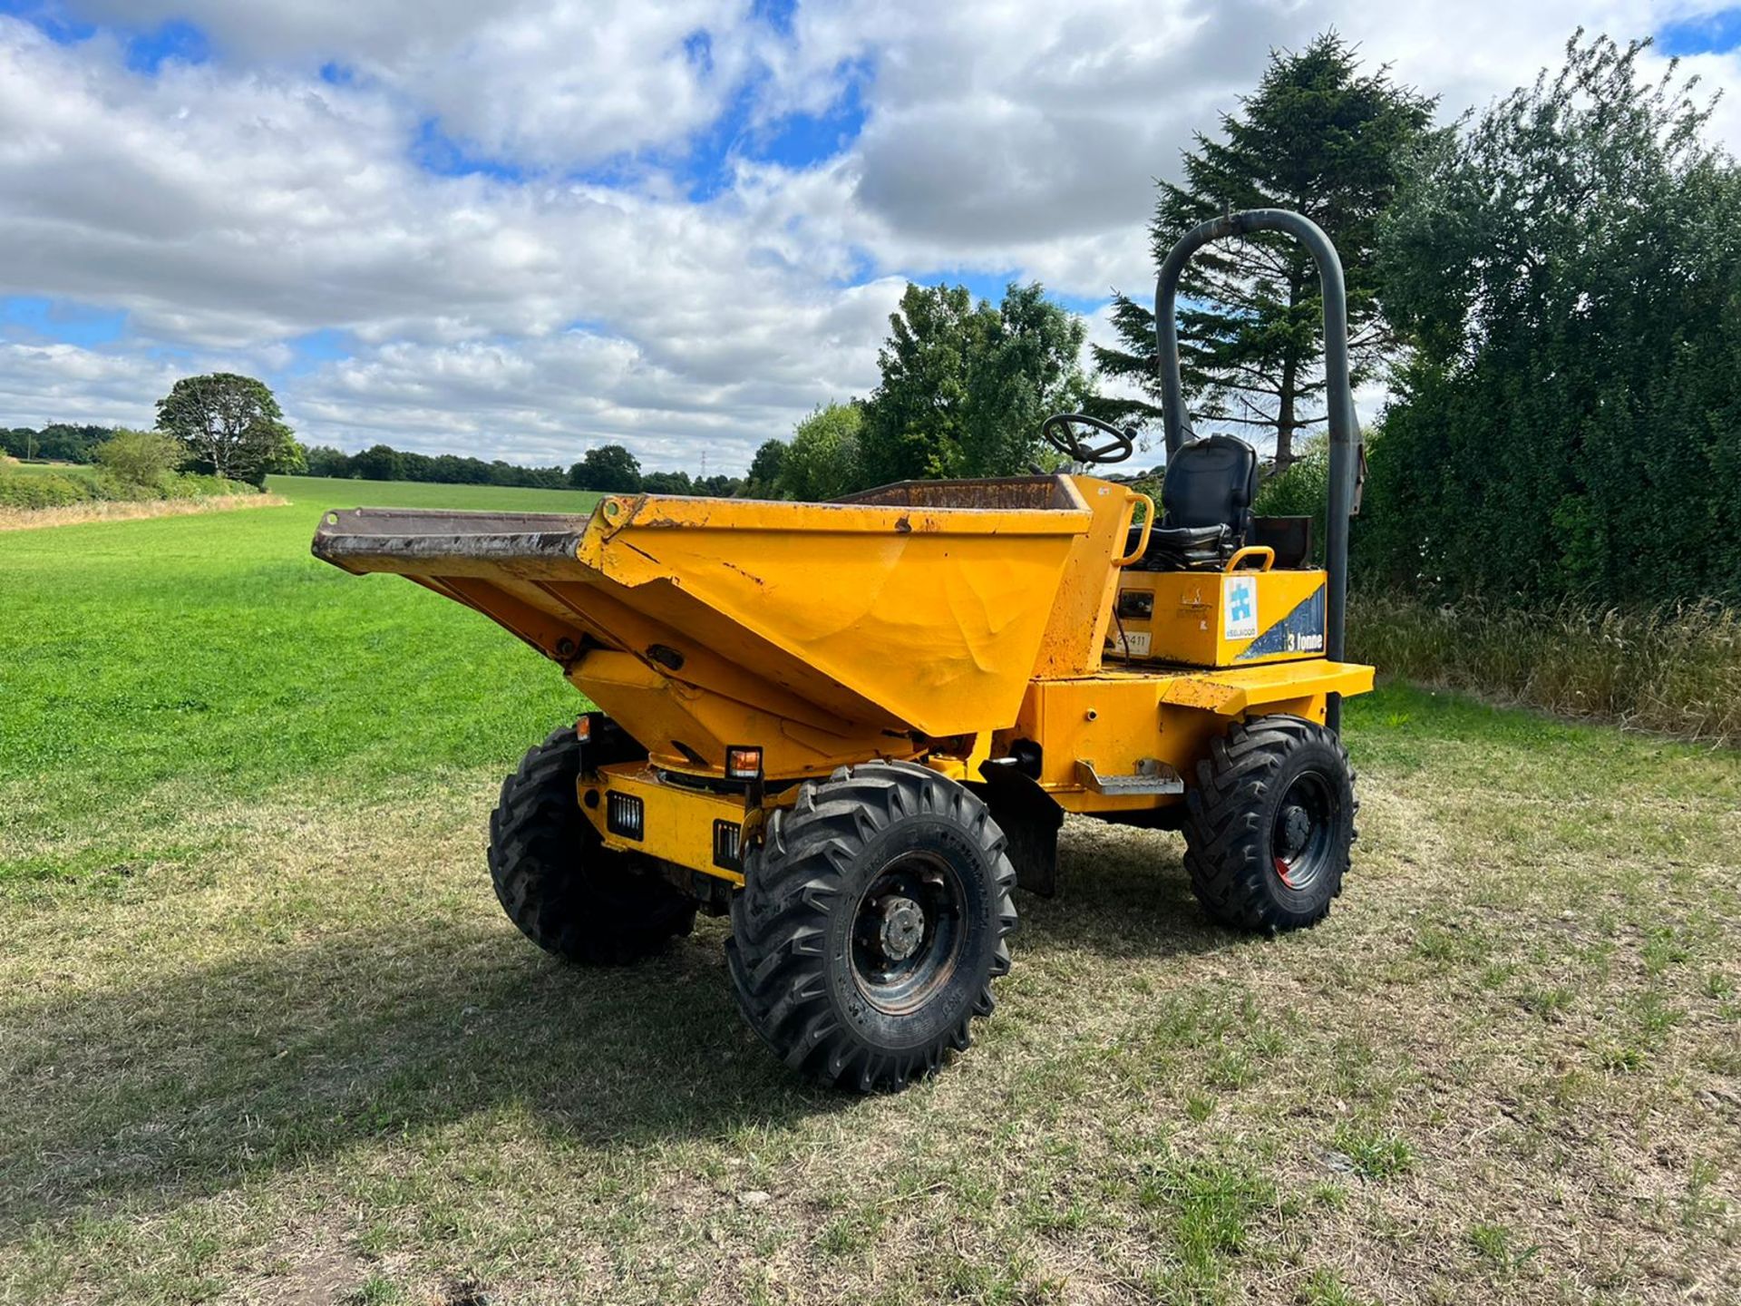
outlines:
{"label": "chunky black rubber of the nearest front tyre, excluding its rim", "polygon": [[[858,853],[918,815],[952,822],[982,850],[992,937],[980,973],[970,973],[971,959],[963,958],[947,986],[973,986],[959,1019],[923,1047],[879,1050],[848,1027],[829,996],[825,937],[836,911],[857,907],[864,885],[850,876]],[[977,796],[914,763],[841,766],[827,780],[804,782],[790,808],[770,815],[743,871],[726,961],[745,1020],[787,1066],[829,1085],[881,1092],[935,1074],[951,1048],[966,1052],[971,1022],[996,1006],[991,982],[1010,970],[1008,935],[1017,925],[1015,867]]]}

